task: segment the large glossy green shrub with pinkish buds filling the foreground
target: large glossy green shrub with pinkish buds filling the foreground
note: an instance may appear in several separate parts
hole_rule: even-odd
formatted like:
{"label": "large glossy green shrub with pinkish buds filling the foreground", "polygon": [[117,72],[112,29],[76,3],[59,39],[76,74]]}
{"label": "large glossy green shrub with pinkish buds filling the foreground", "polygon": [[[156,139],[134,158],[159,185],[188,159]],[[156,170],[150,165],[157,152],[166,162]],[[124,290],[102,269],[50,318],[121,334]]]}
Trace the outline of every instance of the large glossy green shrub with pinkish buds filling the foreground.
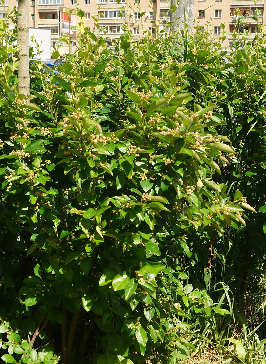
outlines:
{"label": "large glossy green shrub with pinkish buds filling the foreground", "polygon": [[207,54],[192,49],[187,62],[180,47],[176,61],[171,35],[132,44],[125,32],[118,55],[95,38],[85,29],[58,74],[32,64],[31,103],[1,40],[7,363],[176,363],[195,350],[192,325],[230,313],[183,264],[196,239],[210,260],[193,250],[191,266],[210,270],[212,244],[254,211],[227,192],[235,149],[213,93],[225,80],[195,90],[192,74],[206,67],[192,63]]}

